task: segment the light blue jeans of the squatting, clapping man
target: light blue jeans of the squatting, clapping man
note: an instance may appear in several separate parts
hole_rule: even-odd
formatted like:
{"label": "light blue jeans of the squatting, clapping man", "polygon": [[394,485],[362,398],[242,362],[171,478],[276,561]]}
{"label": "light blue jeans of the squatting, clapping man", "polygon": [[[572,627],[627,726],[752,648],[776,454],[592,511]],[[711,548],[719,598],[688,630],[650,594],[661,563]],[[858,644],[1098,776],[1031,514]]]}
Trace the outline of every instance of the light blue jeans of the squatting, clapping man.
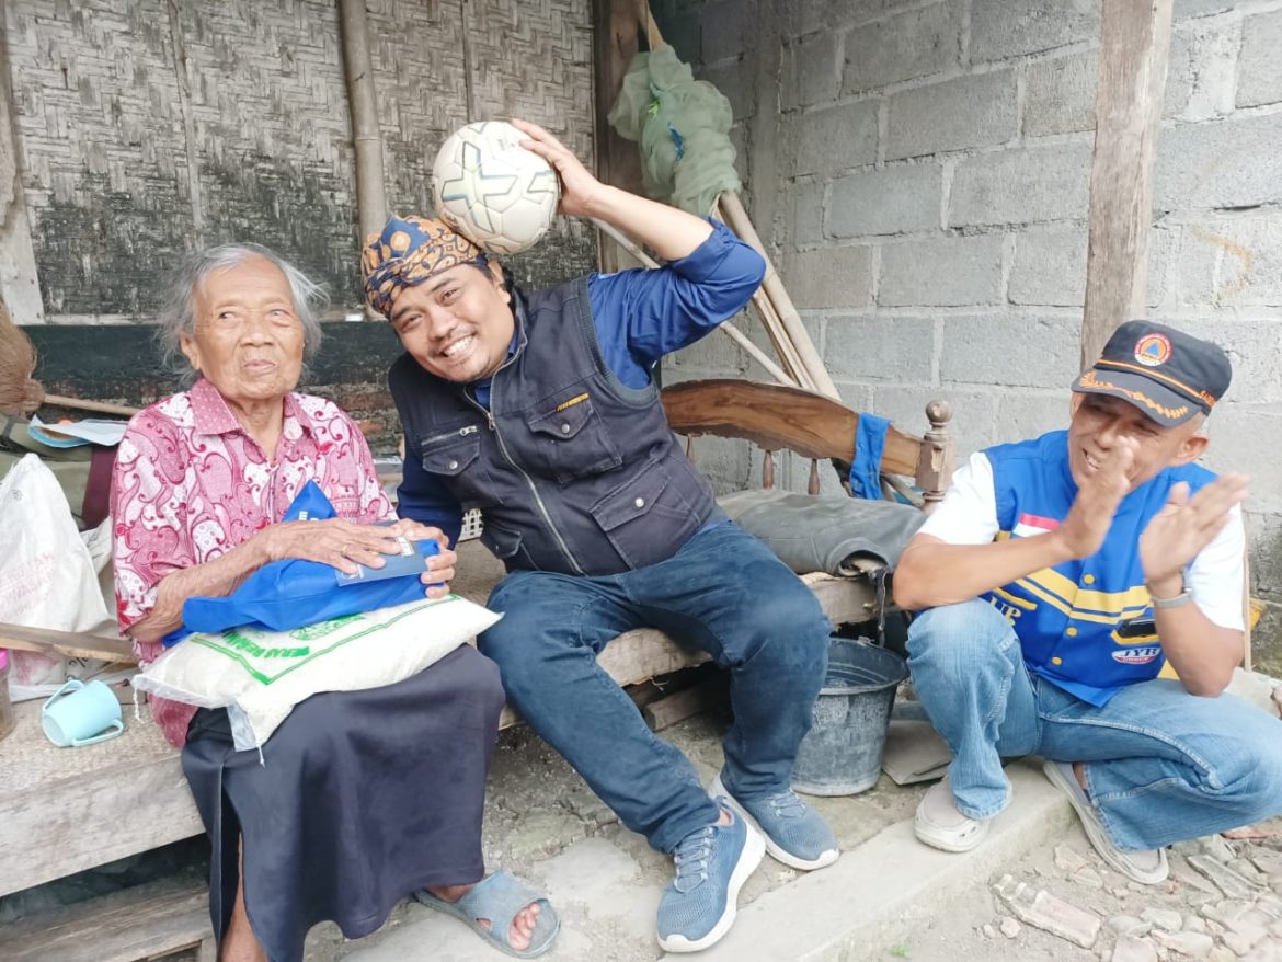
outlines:
{"label": "light blue jeans of the squatting, clapping man", "polygon": [[1154,849],[1282,812],[1282,721],[1174,680],[1082,702],[1023,662],[991,604],[932,608],[908,632],[913,685],[949,743],[956,807],[995,816],[1010,800],[1003,757],[1085,762],[1087,794],[1113,843]]}

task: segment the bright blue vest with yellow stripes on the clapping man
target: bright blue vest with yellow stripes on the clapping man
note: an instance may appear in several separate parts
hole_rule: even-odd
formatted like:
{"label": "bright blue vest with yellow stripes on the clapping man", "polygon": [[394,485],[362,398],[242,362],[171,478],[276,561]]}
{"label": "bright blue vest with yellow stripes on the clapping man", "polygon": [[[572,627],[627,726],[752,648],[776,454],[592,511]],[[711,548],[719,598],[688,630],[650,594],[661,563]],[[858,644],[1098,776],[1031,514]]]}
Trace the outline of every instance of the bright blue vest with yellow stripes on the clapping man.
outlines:
{"label": "bright blue vest with yellow stripes on the clapping man", "polygon": [[[1068,466],[1067,431],[985,454],[992,464],[999,539],[1035,536],[1068,517],[1077,484]],[[1140,535],[1167,503],[1172,485],[1186,481],[1196,491],[1214,477],[1192,464],[1164,469],[1122,499],[1097,553],[983,595],[1010,621],[1029,671],[1091,704],[1158,676],[1165,664],[1158,636],[1118,632],[1122,622],[1153,617]]]}

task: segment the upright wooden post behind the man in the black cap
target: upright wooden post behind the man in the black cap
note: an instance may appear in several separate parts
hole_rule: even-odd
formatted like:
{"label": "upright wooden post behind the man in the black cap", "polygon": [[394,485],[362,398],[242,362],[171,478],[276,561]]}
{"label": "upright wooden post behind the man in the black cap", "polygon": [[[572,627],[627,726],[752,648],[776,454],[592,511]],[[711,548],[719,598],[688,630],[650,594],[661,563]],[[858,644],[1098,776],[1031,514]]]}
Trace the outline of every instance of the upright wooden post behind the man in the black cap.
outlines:
{"label": "upright wooden post behind the man in the black cap", "polygon": [[1147,308],[1153,156],[1161,123],[1172,0],[1104,0],[1082,317],[1082,368]]}

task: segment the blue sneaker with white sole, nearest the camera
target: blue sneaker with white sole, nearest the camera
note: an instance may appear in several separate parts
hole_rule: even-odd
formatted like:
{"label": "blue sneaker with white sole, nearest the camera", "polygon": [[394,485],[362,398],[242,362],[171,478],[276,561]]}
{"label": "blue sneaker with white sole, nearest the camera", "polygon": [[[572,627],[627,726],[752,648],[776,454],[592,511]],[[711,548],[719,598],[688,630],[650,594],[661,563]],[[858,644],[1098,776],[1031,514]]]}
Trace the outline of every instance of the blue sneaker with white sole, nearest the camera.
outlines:
{"label": "blue sneaker with white sole, nearest the camera", "polygon": [[677,877],[659,899],[659,947],[664,952],[699,952],[728,932],[738,890],[765,854],[762,836],[735,812],[723,811],[729,812],[729,825],[697,829],[672,853]]}

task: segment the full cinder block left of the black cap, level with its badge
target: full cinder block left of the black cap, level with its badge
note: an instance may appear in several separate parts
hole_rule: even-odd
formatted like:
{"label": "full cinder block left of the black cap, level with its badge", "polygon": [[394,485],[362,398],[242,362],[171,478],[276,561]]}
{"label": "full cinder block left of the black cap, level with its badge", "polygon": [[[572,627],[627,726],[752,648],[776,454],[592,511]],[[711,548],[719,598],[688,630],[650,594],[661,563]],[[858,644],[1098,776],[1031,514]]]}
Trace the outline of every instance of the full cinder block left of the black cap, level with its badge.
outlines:
{"label": "full cinder block left of the black cap, level with its badge", "polygon": [[1079,369],[1082,319],[1028,314],[949,317],[940,380],[997,387],[1068,385]]}

